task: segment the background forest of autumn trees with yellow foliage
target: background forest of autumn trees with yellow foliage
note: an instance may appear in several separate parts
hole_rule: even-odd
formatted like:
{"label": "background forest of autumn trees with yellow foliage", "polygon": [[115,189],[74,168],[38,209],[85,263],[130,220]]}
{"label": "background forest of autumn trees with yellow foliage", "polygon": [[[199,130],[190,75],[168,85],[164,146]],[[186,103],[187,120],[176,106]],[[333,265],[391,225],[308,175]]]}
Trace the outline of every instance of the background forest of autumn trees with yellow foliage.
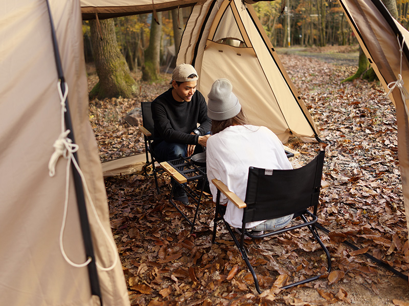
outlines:
{"label": "background forest of autumn trees with yellow foliage", "polygon": [[[409,27],[408,0],[382,0],[393,16]],[[282,0],[253,5],[264,30],[276,47],[351,45],[357,41],[339,3],[331,0]],[[145,64],[152,56],[152,44],[160,56],[157,66],[174,65],[184,24],[192,8],[157,14],[160,24],[152,23],[152,14],[114,18],[118,46],[131,71]],[[155,39],[150,33],[158,30]],[[157,29],[158,28],[158,29]],[[85,59],[93,61],[93,46],[89,21],[83,23]],[[155,41],[156,40],[156,41]],[[176,47],[175,47],[176,46]],[[153,79],[154,81],[154,79]]]}

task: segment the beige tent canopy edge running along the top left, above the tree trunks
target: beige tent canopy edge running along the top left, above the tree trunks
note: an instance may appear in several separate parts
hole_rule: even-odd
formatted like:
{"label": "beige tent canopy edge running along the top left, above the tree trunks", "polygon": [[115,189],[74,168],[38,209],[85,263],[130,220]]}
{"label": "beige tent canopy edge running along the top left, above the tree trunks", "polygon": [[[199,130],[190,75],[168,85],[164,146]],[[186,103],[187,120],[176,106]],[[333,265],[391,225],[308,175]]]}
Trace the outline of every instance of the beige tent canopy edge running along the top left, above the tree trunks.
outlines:
{"label": "beige tent canopy edge running along the top left, above the tree trunks", "polygon": [[83,20],[95,19],[98,13],[99,19],[129,16],[166,11],[178,7],[194,6],[198,0],[81,0],[81,13]]}

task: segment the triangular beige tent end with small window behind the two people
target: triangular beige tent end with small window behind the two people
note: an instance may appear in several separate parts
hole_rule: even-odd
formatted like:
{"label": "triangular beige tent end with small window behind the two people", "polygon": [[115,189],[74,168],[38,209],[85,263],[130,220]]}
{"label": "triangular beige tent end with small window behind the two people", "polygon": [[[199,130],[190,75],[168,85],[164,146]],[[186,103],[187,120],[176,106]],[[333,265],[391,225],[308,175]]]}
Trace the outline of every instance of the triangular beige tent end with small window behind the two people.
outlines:
{"label": "triangular beige tent end with small window behind the two people", "polygon": [[283,143],[292,137],[317,141],[320,132],[251,5],[196,4],[180,44],[181,63],[196,68],[205,96],[215,80],[229,79],[249,121],[267,126]]}

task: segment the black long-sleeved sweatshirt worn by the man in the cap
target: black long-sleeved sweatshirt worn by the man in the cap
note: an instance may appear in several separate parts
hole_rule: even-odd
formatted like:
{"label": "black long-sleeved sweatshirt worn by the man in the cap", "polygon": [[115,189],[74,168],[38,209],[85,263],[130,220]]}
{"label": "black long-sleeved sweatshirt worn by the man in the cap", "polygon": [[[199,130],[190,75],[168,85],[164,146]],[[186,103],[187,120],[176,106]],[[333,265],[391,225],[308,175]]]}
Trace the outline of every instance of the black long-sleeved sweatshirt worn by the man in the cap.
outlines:
{"label": "black long-sleeved sweatshirt worn by the man in the cap", "polygon": [[197,144],[198,135],[190,133],[200,126],[200,136],[210,131],[212,120],[208,117],[205,97],[196,90],[189,102],[178,102],[172,88],[153,100],[151,105],[154,123],[153,145],[165,140],[173,143]]}

